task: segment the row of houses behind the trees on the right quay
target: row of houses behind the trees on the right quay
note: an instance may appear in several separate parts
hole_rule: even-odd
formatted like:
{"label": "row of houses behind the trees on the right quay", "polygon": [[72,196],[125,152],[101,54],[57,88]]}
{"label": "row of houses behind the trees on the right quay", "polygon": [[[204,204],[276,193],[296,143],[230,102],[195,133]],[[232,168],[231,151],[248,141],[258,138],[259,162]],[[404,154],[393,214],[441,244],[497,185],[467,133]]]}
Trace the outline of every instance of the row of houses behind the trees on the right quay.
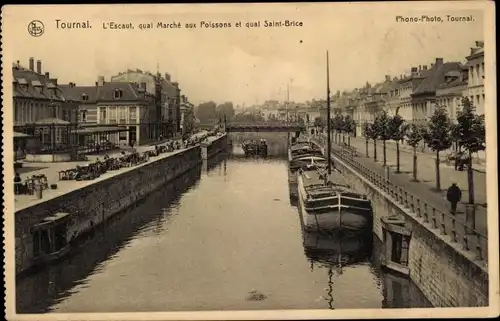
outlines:
{"label": "row of houses behind the trees on the right quay", "polygon": [[[332,115],[349,115],[361,133],[364,122],[373,122],[385,110],[399,113],[407,122],[425,122],[436,104],[445,106],[451,119],[456,119],[462,97],[469,97],[478,114],[484,114],[484,42],[476,41],[466,62],[447,62],[436,58],[430,65],[412,67],[409,73],[391,77],[352,91],[337,92],[331,97]],[[325,106],[325,104],[322,104]],[[326,108],[321,109],[326,119]]]}

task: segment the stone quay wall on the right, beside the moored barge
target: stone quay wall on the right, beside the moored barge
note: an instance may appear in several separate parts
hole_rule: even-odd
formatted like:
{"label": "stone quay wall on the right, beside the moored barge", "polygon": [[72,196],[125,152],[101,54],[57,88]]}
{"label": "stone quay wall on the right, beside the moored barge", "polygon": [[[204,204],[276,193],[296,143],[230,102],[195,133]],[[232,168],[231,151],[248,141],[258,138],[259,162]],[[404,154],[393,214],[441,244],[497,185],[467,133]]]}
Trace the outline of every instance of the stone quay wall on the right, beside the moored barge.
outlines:
{"label": "stone quay wall on the right, beside the moored barge", "polygon": [[352,188],[364,193],[373,206],[373,230],[377,238],[382,237],[383,217],[399,216],[412,231],[409,244],[408,267],[410,278],[435,307],[488,306],[488,271],[472,257],[457,250],[439,235],[439,230],[430,228],[404,208],[382,189],[356,172],[335,155],[335,166],[344,174]]}

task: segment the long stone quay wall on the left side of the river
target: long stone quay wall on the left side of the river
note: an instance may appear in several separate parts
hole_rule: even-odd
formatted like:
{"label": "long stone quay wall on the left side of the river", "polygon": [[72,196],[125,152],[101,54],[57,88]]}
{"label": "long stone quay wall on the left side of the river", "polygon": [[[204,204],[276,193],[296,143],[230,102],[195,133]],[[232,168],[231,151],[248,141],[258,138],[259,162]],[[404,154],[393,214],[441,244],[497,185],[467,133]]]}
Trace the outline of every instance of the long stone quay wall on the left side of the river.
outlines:
{"label": "long stone quay wall on the left side of the river", "polygon": [[147,163],[122,169],[121,173],[110,172],[110,177],[16,211],[16,274],[33,266],[30,229],[44,218],[58,212],[69,213],[68,237],[76,238],[201,162],[199,145],[171,155],[160,155]]}

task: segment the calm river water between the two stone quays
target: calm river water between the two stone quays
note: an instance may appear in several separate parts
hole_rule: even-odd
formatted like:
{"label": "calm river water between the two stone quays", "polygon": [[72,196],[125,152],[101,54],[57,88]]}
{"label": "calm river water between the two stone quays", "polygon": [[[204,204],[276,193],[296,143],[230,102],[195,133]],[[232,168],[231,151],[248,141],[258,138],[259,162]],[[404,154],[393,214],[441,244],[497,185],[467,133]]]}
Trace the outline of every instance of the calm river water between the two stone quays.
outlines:
{"label": "calm river water between the two stone quays", "polygon": [[18,313],[428,307],[378,242],[303,235],[287,162],[241,148],[180,177],[17,280]]}

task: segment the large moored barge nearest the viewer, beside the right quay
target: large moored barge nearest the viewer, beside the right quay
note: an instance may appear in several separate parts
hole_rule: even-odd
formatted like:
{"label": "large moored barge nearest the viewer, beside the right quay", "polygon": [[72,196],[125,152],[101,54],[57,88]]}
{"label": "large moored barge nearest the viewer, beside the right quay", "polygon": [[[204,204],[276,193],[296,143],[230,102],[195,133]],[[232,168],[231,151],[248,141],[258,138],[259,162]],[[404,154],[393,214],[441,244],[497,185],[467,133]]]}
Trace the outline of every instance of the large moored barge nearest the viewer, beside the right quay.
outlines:
{"label": "large moored barge nearest the viewer, beside the right quay", "polygon": [[372,206],[333,169],[330,177],[318,166],[301,169],[297,182],[299,211],[306,231],[365,233],[372,230]]}

